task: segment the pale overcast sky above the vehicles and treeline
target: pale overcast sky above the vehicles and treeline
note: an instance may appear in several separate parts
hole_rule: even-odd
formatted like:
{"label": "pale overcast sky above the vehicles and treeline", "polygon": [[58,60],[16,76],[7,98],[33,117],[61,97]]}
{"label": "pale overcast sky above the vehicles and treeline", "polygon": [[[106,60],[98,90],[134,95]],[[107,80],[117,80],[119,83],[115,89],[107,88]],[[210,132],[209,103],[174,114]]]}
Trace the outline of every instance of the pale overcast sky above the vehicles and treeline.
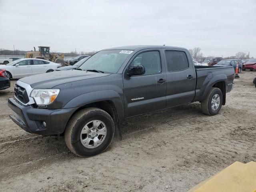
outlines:
{"label": "pale overcast sky above the vehicles and treeline", "polygon": [[0,0],[0,48],[200,47],[256,57],[256,0]]}

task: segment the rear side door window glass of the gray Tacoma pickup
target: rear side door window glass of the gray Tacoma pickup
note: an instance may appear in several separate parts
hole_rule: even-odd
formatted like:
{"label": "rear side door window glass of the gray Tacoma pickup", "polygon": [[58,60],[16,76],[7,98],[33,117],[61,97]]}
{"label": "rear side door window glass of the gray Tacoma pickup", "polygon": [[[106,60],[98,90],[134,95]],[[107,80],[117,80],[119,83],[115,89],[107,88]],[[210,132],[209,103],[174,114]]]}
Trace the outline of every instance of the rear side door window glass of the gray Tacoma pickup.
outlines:
{"label": "rear side door window glass of the gray Tacoma pickup", "polygon": [[188,68],[188,58],[183,51],[165,51],[168,71],[181,71]]}

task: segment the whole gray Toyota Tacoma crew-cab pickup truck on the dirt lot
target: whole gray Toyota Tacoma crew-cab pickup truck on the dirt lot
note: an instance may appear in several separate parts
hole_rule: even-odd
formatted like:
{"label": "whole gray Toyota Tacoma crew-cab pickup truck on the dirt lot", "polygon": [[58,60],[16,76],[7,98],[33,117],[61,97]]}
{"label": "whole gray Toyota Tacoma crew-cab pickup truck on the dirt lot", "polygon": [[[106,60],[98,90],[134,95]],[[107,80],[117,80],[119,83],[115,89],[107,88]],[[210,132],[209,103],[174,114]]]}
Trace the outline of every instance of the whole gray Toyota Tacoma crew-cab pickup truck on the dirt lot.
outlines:
{"label": "whole gray Toyota Tacoma crew-cab pickup truck on the dirt lot", "polygon": [[185,48],[124,46],[76,70],[18,80],[8,105],[25,131],[64,134],[74,154],[92,156],[108,148],[125,118],[196,101],[204,114],[218,114],[233,80],[232,66],[194,66]]}

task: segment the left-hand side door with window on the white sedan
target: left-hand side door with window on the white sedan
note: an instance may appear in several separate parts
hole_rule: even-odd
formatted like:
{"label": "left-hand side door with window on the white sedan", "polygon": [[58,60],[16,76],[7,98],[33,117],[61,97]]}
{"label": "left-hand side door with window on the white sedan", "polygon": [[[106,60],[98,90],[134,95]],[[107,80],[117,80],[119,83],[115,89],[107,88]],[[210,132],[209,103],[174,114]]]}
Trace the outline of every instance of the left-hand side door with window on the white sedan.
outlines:
{"label": "left-hand side door with window on the white sedan", "polygon": [[14,68],[14,74],[16,78],[21,78],[21,77],[26,77],[30,76],[32,74],[32,69],[31,69],[31,60],[22,60],[16,64],[19,64],[19,66],[13,66]]}

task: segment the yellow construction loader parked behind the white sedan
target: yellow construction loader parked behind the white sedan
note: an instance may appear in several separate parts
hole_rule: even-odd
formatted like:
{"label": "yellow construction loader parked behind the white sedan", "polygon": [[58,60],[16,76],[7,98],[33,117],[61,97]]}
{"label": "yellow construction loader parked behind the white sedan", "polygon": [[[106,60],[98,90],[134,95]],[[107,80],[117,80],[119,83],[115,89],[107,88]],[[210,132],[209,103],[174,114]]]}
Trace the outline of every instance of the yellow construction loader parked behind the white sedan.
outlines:
{"label": "yellow construction loader parked behind the white sedan", "polygon": [[54,63],[59,63],[61,66],[65,66],[66,63],[64,61],[64,54],[50,54],[50,47],[46,46],[38,46],[39,51],[36,51],[34,47],[34,51],[26,52],[25,58],[38,58],[48,60]]}

